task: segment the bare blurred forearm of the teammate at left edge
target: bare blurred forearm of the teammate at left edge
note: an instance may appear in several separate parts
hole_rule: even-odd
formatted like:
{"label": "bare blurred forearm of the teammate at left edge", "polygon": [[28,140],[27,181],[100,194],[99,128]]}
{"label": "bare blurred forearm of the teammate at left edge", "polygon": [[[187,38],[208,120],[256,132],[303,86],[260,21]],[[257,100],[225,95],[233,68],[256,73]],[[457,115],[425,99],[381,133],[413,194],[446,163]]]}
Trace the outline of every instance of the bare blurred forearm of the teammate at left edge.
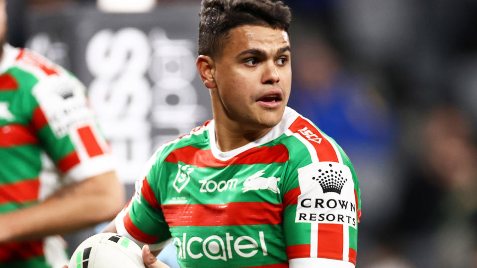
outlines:
{"label": "bare blurred forearm of the teammate at left edge", "polygon": [[65,187],[37,205],[0,215],[0,243],[73,232],[112,219],[124,204],[114,172]]}

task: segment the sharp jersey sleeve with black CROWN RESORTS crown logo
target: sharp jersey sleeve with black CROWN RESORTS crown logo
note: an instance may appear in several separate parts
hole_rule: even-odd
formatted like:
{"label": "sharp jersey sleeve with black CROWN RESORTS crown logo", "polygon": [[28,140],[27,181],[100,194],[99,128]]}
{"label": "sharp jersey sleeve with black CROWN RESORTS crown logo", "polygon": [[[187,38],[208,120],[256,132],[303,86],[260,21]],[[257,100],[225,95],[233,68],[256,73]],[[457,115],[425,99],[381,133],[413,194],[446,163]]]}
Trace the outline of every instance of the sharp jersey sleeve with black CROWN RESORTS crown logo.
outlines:
{"label": "sharp jersey sleeve with black CROWN RESORTS crown logo", "polygon": [[[305,132],[303,126],[297,129]],[[353,166],[344,151],[316,129],[294,135],[300,141],[292,150],[296,157],[291,155],[280,184],[287,258],[290,265],[298,265],[290,267],[301,262],[354,267],[361,201]],[[311,135],[320,142],[307,140]]]}

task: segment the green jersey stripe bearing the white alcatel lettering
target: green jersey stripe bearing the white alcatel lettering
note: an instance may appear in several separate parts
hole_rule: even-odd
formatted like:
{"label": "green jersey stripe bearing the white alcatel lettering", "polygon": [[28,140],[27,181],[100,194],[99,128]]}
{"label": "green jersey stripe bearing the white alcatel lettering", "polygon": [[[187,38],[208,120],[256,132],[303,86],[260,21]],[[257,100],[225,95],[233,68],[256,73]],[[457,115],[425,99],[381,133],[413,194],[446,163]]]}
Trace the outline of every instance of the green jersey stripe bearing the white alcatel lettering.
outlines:
{"label": "green jersey stripe bearing the white alcatel lettering", "polygon": [[[287,263],[280,225],[172,227],[181,267],[250,267]],[[273,257],[272,257],[273,256]]]}

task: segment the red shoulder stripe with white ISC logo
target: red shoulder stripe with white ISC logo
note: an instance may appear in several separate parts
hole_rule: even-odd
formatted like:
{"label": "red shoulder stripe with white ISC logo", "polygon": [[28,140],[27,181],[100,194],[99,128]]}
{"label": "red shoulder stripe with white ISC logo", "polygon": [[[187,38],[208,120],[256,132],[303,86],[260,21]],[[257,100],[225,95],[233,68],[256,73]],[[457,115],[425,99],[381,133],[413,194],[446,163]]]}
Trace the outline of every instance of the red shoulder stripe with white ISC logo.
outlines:
{"label": "red shoulder stripe with white ISC logo", "polygon": [[331,143],[304,118],[298,117],[288,129],[293,133],[300,134],[313,145],[319,161],[338,162],[338,156]]}

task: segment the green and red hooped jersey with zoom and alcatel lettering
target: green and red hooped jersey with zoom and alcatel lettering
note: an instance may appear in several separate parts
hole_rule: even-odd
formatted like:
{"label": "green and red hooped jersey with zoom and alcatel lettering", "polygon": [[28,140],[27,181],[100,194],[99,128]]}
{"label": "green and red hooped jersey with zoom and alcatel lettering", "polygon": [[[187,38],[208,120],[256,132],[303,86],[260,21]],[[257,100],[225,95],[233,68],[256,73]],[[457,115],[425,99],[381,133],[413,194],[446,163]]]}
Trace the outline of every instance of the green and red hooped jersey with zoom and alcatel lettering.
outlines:
{"label": "green and red hooped jersey with zoom and alcatel lettering", "polygon": [[358,181],[333,139],[286,108],[264,137],[221,152],[214,121],[162,145],[116,229],[180,267],[289,267],[325,258],[356,264]]}

